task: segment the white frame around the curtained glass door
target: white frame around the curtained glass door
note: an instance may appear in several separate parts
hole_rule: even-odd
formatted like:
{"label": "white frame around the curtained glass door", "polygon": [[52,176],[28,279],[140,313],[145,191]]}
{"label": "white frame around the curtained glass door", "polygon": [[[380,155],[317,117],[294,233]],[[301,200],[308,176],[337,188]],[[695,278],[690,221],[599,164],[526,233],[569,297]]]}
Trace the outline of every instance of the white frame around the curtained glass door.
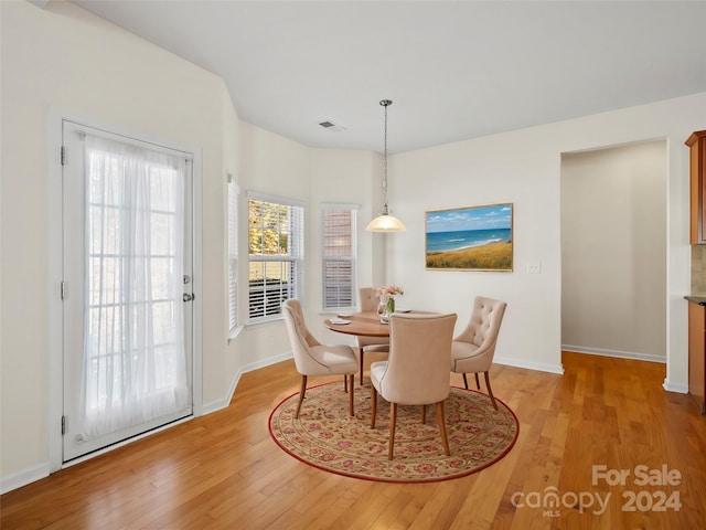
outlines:
{"label": "white frame around the curtained glass door", "polygon": [[62,187],[62,165],[61,147],[63,141],[62,124],[64,120],[82,124],[95,129],[110,131],[117,135],[136,138],[150,144],[169,146],[172,149],[193,153],[192,174],[192,212],[193,212],[193,278],[192,293],[194,293],[193,304],[193,332],[192,332],[192,388],[193,388],[193,415],[176,423],[190,421],[192,417],[203,415],[203,352],[202,321],[203,321],[203,283],[202,283],[202,187],[203,187],[203,158],[201,148],[176,144],[173,140],[145,134],[142,131],[128,128],[124,125],[116,125],[98,120],[93,117],[79,116],[76,113],[61,108],[50,108],[47,119],[47,167],[49,167],[49,204],[47,213],[47,269],[49,269],[49,308],[47,308],[47,367],[49,367],[49,390],[47,390],[47,447],[49,447],[49,473],[57,471],[64,467],[69,467],[81,462],[85,462],[95,456],[101,455],[136,439],[149,436],[156,432],[169,428],[174,423],[158,427],[145,434],[140,434],[125,442],[114,444],[104,449],[90,453],[76,458],[69,463],[63,462],[63,439],[62,439],[62,415],[64,413],[64,378],[63,378],[63,303],[61,299],[61,282],[63,269],[63,187]]}

